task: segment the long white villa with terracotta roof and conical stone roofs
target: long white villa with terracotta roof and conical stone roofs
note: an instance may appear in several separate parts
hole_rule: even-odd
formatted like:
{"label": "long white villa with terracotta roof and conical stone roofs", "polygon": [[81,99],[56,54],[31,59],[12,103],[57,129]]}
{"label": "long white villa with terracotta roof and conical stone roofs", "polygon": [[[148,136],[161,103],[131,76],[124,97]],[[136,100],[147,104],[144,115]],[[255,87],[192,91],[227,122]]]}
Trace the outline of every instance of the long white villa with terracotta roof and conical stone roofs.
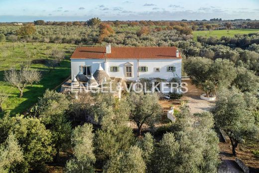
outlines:
{"label": "long white villa with terracotta roof and conical stone roofs", "polygon": [[181,68],[176,47],[78,47],[71,56],[71,82],[181,79]]}

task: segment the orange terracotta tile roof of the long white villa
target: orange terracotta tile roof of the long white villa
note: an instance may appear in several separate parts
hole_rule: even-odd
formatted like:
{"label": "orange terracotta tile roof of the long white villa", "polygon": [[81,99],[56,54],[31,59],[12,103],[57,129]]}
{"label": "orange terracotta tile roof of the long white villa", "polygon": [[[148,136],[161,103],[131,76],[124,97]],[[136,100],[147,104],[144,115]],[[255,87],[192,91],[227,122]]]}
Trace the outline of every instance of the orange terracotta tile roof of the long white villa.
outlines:
{"label": "orange terracotta tile roof of the long white villa", "polygon": [[[107,59],[181,59],[176,47],[112,47]],[[71,59],[105,59],[105,47],[78,47]]]}

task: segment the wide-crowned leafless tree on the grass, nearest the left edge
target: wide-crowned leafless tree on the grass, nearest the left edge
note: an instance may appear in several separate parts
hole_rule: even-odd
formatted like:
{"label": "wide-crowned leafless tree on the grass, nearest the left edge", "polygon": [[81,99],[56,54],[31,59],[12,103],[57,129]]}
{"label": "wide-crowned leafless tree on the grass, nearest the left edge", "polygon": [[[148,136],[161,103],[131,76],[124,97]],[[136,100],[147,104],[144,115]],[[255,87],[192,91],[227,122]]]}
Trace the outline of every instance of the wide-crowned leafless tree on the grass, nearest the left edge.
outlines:
{"label": "wide-crowned leafless tree on the grass, nearest the left edge", "polygon": [[20,92],[20,97],[23,96],[23,90],[26,86],[38,83],[41,79],[41,74],[37,70],[30,70],[30,64],[20,65],[20,70],[10,68],[4,71],[4,79]]}

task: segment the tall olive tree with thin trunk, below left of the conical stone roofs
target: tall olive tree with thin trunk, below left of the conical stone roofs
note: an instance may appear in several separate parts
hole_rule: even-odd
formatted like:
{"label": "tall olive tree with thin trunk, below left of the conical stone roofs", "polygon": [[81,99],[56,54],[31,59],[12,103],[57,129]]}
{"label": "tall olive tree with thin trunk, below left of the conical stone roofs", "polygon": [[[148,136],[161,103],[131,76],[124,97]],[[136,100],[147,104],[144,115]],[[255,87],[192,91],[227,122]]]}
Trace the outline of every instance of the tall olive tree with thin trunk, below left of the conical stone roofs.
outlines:
{"label": "tall olive tree with thin trunk, below left of the conical stone roofs", "polygon": [[70,146],[71,124],[66,114],[68,107],[69,100],[66,95],[46,90],[31,111],[51,131],[52,143],[56,149],[56,162],[59,162],[60,151]]}

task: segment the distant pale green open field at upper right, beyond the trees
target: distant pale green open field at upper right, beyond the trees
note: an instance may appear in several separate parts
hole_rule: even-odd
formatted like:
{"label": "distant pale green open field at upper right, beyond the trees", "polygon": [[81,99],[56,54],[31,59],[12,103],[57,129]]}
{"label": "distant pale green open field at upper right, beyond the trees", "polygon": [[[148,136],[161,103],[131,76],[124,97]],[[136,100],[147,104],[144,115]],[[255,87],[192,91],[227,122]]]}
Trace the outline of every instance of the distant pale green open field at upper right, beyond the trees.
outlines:
{"label": "distant pale green open field at upper right, beyond the trees", "polygon": [[234,36],[235,34],[249,34],[259,32],[259,29],[235,29],[235,30],[212,30],[212,31],[194,31],[194,39],[197,40],[197,36],[216,36],[218,38],[222,36]]}

